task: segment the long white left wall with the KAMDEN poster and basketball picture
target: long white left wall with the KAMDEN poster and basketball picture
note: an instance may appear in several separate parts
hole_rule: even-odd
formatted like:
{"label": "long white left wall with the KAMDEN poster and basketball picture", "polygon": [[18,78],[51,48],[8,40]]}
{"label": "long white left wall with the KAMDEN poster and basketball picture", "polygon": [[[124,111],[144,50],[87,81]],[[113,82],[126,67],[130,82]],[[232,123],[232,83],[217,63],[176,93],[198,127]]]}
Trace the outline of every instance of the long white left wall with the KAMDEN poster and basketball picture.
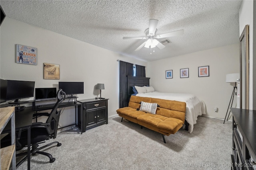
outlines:
{"label": "long white left wall with the KAMDEN poster and basketball picture", "polygon": [[[37,65],[16,63],[16,44],[36,47]],[[35,81],[35,88],[57,89],[59,81],[81,81],[84,82],[84,94],[78,94],[78,100],[95,98],[100,93],[95,90],[95,85],[104,83],[102,97],[109,98],[109,116],[116,115],[119,108],[119,62],[116,60],[147,66],[144,61],[8,17],[0,27],[0,48],[0,78]],[[43,63],[60,64],[60,80],[43,79]],[[74,108],[66,108],[60,117],[60,125],[73,122]]]}

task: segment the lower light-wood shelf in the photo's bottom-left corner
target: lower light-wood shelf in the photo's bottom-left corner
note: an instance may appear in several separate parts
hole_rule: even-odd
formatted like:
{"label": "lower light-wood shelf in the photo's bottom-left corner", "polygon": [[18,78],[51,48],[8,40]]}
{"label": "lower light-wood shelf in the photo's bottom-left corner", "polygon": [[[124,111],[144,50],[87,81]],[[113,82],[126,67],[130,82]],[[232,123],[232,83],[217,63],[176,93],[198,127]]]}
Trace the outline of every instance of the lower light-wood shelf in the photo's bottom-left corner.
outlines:
{"label": "lower light-wood shelf in the photo's bottom-left corner", "polygon": [[12,156],[15,150],[15,145],[2,148],[1,152],[1,170],[8,170],[12,162]]}

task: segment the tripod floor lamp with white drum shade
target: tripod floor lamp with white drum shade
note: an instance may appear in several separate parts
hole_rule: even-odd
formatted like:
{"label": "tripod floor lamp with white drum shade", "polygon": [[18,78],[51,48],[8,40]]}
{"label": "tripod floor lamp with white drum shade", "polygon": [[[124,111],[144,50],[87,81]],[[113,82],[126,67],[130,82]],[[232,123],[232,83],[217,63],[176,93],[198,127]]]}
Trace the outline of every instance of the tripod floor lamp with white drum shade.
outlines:
{"label": "tripod floor lamp with white drum shade", "polygon": [[[235,86],[233,87],[233,92],[232,92],[232,95],[231,95],[231,98],[230,98],[230,101],[229,101],[229,104],[228,104],[228,109],[229,109],[229,107],[232,107],[234,96],[236,94],[235,90],[237,88],[236,87],[236,82],[238,82],[239,78],[240,78],[240,74],[239,73],[226,74],[226,83],[235,83]],[[232,100],[232,102],[231,102],[231,100]],[[231,106],[230,106],[230,103],[231,103]],[[225,123],[227,115],[229,117],[230,110],[229,110],[229,113],[228,113],[228,110],[227,110],[227,113],[226,113],[226,116],[225,116],[223,124]],[[227,117],[227,121],[228,121],[228,117]]]}

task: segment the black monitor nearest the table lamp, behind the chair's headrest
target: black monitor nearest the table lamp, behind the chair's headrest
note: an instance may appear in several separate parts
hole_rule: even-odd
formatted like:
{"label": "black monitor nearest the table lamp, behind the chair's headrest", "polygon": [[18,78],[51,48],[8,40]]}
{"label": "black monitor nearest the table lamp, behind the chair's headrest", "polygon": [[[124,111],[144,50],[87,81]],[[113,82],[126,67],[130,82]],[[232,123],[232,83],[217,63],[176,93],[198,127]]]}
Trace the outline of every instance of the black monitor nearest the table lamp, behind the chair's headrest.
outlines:
{"label": "black monitor nearest the table lamp, behind the chair's headrest", "polygon": [[84,82],[59,82],[59,89],[67,95],[84,94]]}

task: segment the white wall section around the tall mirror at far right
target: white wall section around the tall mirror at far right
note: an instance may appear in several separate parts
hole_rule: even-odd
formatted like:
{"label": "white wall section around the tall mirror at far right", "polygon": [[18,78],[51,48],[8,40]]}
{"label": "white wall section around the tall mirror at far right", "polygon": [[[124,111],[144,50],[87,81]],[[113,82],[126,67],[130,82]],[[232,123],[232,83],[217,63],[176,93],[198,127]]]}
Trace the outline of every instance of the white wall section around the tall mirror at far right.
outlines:
{"label": "white wall section around the tall mirror at far right", "polygon": [[[249,109],[253,109],[253,91],[256,91],[254,85],[253,88],[253,77],[256,78],[256,68],[253,67],[253,5],[255,2],[253,0],[243,0],[242,5],[239,10],[239,32],[240,35],[244,30],[245,25],[249,25]],[[256,20],[254,18],[254,20]],[[256,61],[254,61],[256,62]],[[253,71],[254,70],[254,71]],[[253,74],[254,72],[254,74]],[[255,94],[255,92],[254,92]],[[254,96],[254,100],[256,100]],[[256,101],[254,102],[254,109],[256,108]]]}

